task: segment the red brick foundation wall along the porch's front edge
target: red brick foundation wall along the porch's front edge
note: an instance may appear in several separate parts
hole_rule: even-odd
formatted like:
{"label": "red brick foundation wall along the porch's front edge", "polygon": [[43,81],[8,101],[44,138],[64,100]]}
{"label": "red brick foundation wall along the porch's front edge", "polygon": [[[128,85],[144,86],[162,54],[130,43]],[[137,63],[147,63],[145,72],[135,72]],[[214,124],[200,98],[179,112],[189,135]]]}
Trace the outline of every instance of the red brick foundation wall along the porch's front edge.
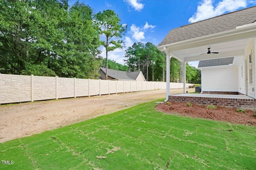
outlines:
{"label": "red brick foundation wall along the porch's front edge", "polygon": [[238,98],[209,98],[209,97],[192,97],[192,96],[169,96],[169,102],[190,102],[199,105],[216,105],[222,107],[252,109],[256,106],[255,99],[238,99]]}

